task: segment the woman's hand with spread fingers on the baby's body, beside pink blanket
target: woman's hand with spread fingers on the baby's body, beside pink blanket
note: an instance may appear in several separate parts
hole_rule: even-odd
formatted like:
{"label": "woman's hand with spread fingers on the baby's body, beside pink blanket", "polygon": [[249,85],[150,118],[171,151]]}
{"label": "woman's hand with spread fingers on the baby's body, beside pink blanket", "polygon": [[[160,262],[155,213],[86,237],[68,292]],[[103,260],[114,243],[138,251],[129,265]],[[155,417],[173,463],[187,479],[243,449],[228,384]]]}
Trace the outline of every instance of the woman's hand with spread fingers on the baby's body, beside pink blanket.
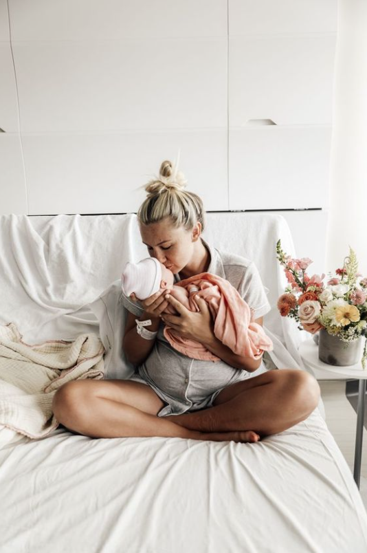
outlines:
{"label": "woman's hand with spread fingers on the baby's body, beside pink blanket", "polygon": [[214,321],[209,307],[203,298],[194,296],[200,311],[192,312],[170,294],[166,293],[164,297],[168,299],[170,305],[173,305],[179,313],[179,316],[161,315],[162,321],[166,325],[176,330],[183,338],[191,338],[203,345],[212,342],[213,338],[215,338]]}

